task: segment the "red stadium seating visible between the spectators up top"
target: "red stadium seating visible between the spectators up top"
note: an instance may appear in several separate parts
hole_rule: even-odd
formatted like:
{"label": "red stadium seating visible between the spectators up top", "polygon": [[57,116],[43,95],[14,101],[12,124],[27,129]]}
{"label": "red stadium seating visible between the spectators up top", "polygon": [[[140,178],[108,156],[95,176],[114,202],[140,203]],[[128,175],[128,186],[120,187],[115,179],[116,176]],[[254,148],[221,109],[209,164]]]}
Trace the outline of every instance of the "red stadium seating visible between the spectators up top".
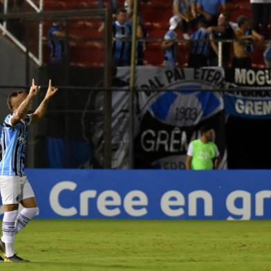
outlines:
{"label": "red stadium seating visible between the spectators up top", "polygon": [[[119,6],[123,6],[123,1],[118,1]],[[169,26],[169,18],[172,15],[172,1],[165,0],[149,0],[147,3],[141,3],[142,17],[144,24],[147,28],[148,38],[160,38],[164,37]],[[106,6],[109,6],[106,1]],[[81,9],[81,8],[95,8],[97,7],[97,1],[93,0],[63,0],[63,1],[44,1],[44,10],[62,10],[62,9]],[[251,19],[250,3],[248,1],[227,1],[227,7],[230,12],[231,21],[236,21],[236,18],[240,15],[245,15]],[[84,26],[84,27],[82,27]],[[102,34],[97,31],[99,28],[99,21],[73,21],[68,25],[68,31],[71,35],[77,37],[83,37],[84,39],[97,38],[96,41],[73,41],[71,46],[71,64],[76,66],[102,66],[104,62],[104,53],[102,48],[102,42],[98,39],[102,39]],[[48,25],[45,25],[44,35],[48,30]],[[180,30],[179,30],[180,31]],[[179,37],[182,37],[179,35]],[[99,45],[100,44],[100,45]],[[179,44],[178,59],[180,66],[187,63],[187,55],[183,49],[183,44]],[[263,50],[265,46],[256,46],[256,50],[252,55],[253,66],[263,67]],[[45,59],[48,59],[48,45],[46,37],[44,37],[44,54]],[[147,43],[147,48],[144,54],[145,64],[160,66],[163,62],[163,52],[160,48],[160,42],[151,41]]]}

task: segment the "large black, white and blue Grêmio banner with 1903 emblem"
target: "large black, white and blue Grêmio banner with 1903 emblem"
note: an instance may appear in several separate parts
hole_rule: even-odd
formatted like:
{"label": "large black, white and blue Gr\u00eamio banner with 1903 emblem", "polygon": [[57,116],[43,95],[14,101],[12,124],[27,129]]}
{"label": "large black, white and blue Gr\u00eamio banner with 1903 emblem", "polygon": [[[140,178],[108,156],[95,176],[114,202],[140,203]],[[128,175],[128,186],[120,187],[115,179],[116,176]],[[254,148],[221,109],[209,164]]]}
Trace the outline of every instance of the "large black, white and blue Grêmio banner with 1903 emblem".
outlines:
{"label": "large black, white and blue Gr\u00eamio banner with 1903 emblem", "polygon": [[[129,75],[129,68],[118,68],[123,82],[129,82]],[[214,128],[214,141],[225,157],[223,96],[204,91],[224,87],[222,68],[138,67],[136,88],[144,91],[135,97],[136,168],[184,169],[189,142],[200,136],[205,124]],[[113,112],[118,111],[113,106]]]}

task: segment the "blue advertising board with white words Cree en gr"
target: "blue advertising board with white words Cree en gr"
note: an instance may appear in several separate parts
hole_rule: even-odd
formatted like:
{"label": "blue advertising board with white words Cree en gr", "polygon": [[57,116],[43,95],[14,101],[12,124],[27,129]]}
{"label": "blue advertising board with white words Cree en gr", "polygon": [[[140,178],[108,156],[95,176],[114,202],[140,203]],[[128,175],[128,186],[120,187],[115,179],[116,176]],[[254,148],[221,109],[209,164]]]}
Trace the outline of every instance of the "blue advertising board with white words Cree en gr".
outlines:
{"label": "blue advertising board with white words Cree en gr", "polygon": [[[28,169],[37,218],[271,218],[271,171]],[[1,214],[3,208],[1,208]]]}

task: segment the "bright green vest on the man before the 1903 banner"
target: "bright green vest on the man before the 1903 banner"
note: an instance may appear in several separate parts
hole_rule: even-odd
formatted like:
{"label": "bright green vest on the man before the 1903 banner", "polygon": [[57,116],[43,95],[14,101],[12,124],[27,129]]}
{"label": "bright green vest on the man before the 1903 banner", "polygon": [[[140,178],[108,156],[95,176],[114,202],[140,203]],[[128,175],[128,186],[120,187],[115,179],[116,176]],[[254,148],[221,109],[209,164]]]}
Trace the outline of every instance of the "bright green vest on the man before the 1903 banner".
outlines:
{"label": "bright green vest on the man before the 1903 banner", "polygon": [[213,159],[216,157],[216,144],[203,143],[199,139],[191,142],[193,145],[192,169],[212,169]]}

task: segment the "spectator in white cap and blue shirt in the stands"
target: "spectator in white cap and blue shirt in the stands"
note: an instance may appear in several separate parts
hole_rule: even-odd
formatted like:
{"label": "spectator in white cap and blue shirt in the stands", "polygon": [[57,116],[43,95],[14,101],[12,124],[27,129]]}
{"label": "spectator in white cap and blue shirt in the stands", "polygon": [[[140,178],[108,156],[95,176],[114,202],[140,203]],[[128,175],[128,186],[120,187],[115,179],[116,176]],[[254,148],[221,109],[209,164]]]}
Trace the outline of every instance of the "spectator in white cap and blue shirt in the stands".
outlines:
{"label": "spectator in white cap and blue shirt in the stands", "polygon": [[174,16],[169,19],[169,30],[162,42],[162,50],[165,50],[165,66],[174,68],[177,64],[178,35],[176,30],[180,25],[180,17]]}

